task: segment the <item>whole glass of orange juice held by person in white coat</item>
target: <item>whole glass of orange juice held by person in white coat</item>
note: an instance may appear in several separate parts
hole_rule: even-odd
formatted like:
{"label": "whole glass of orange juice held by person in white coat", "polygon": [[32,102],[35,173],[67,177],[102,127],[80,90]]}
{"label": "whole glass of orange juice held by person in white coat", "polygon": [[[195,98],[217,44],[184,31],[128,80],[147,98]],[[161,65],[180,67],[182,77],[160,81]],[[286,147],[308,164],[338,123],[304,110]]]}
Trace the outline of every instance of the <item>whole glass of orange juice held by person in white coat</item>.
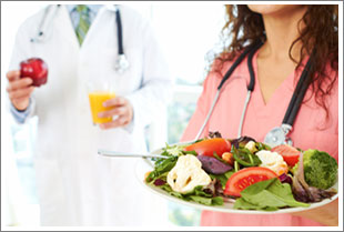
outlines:
{"label": "whole glass of orange juice held by person in white coat", "polygon": [[93,124],[111,122],[112,117],[110,118],[98,117],[98,113],[113,109],[103,107],[104,101],[115,98],[115,93],[111,84],[107,82],[89,82],[88,93],[89,93]]}

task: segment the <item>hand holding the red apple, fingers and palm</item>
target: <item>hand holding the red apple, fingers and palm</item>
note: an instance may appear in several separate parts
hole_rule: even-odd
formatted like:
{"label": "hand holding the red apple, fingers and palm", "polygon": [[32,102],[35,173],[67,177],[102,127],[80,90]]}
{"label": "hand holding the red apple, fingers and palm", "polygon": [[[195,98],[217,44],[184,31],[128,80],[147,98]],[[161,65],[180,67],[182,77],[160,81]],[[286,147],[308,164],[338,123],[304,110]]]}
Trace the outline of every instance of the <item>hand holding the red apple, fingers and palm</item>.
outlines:
{"label": "hand holding the red apple, fingers and palm", "polygon": [[30,103],[30,95],[34,90],[31,87],[32,80],[30,78],[20,78],[20,71],[9,71],[7,74],[9,84],[7,92],[17,110],[26,110]]}

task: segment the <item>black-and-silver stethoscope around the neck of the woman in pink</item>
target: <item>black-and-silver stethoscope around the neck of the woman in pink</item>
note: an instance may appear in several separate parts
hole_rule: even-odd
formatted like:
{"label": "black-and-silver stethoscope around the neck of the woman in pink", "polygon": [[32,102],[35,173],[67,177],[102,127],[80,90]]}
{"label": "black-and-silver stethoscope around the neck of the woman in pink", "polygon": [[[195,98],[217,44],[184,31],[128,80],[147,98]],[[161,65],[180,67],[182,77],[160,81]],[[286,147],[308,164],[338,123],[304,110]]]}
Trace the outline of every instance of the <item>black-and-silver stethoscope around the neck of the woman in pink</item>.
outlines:
{"label": "black-and-silver stethoscope around the neck of the woman in pink", "polygon": [[[255,77],[254,77],[254,71],[253,71],[253,65],[252,65],[252,58],[254,56],[254,53],[263,46],[264,43],[261,40],[255,41],[254,43],[252,43],[251,46],[249,46],[241,54],[240,57],[234,61],[234,63],[232,64],[232,67],[229,69],[229,71],[224,74],[222,81],[220,82],[219,87],[217,87],[217,91],[215,94],[215,98],[211,104],[211,108],[206,114],[206,118],[195,138],[195,140],[199,140],[206,123],[209,122],[211,114],[214,110],[214,107],[219,100],[220,97],[220,92],[222,90],[223,84],[229,80],[229,78],[231,77],[231,74],[233,73],[233,71],[236,69],[236,67],[244,60],[244,58],[249,54],[247,57],[247,67],[249,67],[249,72],[250,72],[250,83],[247,85],[247,94],[246,94],[246,99],[245,99],[245,103],[244,103],[244,108],[241,114],[241,119],[240,119],[240,124],[239,124],[239,131],[237,131],[237,138],[241,137],[242,134],[242,127],[243,127],[243,122],[245,119],[245,113],[246,113],[246,109],[251,99],[251,93],[254,90],[254,85],[255,85]],[[300,80],[297,82],[296,89],[293,93],[293,97],[290,101],[290,104],[287,107],[287,110],[285,112],[284,119],[282,121],[282,124],[280,127],[273,128],[270,132],[267,132],[267,134],[265,135],[264,139],[264,143],[273,147],[280,145],[280,144],[293,144],[293,141],[291,138],[289,138],[289,133],[292,131],[293,129],[293,124],[296,118],[296,114],[299,112],[299,109],[302,104],[304,94],[310,85],[310,79],[307,79],[308,77],[308,71],[312,68],[312,56],[310,57],[301,77]]]}

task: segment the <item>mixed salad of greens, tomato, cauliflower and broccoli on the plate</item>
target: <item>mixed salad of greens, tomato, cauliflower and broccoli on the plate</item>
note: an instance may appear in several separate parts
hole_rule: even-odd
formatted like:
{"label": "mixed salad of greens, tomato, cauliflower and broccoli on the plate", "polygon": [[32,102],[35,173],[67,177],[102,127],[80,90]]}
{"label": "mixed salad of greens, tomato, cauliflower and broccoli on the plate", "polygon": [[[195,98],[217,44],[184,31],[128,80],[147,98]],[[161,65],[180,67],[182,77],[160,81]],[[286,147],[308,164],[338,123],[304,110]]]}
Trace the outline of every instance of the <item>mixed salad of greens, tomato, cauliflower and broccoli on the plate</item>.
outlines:
{"label": "mixed salad of greens, tomato, cauliflower and broccoli on the plate", "polygon": [[308,208],[337,195],[337,162],[328,153],[270,148],[252,138],[224,139],[219,132],[162,149],[144,182],[172,198],[208,206],[277,211]]}

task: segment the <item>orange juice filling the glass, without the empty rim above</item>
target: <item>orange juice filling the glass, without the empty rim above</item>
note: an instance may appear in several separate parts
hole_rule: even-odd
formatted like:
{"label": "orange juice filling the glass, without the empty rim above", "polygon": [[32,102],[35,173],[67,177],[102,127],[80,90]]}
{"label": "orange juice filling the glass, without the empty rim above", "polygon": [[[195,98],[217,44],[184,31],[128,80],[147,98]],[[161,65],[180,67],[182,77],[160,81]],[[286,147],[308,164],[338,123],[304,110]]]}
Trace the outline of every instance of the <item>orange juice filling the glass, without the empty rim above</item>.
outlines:
{"label": "orange juice filling the glass, without the empty rim above", "polygon": [[94,91],[89,93],[90,99],[90,107],[92,112],[93,123],[104,123],[111,122],[112,118],[98,118],[98,113],[107,110],[111,110],[112,108],[104,108],[103,102],[113,99],[115,94],[113,92],[102,92],[102,91]]}

